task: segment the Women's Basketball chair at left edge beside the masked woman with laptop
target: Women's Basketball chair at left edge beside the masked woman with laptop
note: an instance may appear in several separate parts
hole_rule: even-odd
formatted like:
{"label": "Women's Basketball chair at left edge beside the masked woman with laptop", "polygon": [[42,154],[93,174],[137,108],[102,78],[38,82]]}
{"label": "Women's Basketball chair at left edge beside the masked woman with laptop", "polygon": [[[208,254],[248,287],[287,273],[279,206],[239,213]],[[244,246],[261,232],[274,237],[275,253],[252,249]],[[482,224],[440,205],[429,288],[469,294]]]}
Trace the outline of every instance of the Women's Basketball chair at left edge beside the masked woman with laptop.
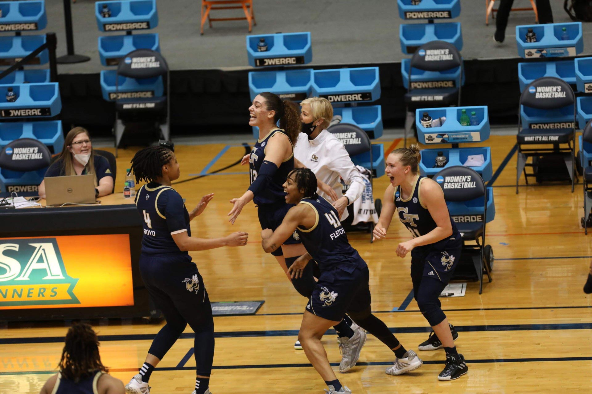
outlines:
{"label": "Women's Basketball chair at left edge beside the masked woman with laptop", "polygon": [[[27,149],[24,153],[34,152],[34,157],[29,159],[17,156],[21,155],[21,148],[33,148],[33,150]],[[31,185],[36,187],[43,180],[43,175],[45,175],[51,159],[52,153],[49,148],[37,139],[15,139],[4,146],[0,151],[0,188],[2,193],[5,194],[10,186],[26,187]],[[18,191],[21,196],[37,196],[36,191],[23,192],[21,190]]]}

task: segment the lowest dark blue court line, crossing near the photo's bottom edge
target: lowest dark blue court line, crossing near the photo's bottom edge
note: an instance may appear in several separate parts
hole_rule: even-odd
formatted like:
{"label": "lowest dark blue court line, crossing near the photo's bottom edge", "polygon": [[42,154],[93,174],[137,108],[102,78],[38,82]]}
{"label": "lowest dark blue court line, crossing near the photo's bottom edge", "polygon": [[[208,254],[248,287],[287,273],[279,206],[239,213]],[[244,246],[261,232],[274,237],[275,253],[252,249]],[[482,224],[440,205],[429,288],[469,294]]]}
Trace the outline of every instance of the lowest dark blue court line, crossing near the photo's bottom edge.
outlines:
{"label": "lowest dark blue court line, crossing near the photo's bottom edge", "polygon": [[[540,362],[561,362],[561,361],[592,361],[592,357],[532,357],[522,359],[466,359],[468,364],[485,364],[485,363],[540,363]],[[444,364],[445,360],[423,360],[424,364]],[[339,363],[330,363],[332,367],[339,366]],[[385,366],[392,365],[392,361],[375,361],[375,362],[359,362],[356,366]],[[303,368],[312,367],[308,363],[294,363],[294,364],[259,364],[259,365],[215,365],[212,369],[264,369],[264,368]],[[110,372],[137,372],[139,368],[110,368]],[[156,371],[180,371],[188,370],[195,371],[195,367],[156,367]],[[41,375],[54,374],[57,371],[15,371],[15,372],[0,372],[0,376],[9,375]]]}

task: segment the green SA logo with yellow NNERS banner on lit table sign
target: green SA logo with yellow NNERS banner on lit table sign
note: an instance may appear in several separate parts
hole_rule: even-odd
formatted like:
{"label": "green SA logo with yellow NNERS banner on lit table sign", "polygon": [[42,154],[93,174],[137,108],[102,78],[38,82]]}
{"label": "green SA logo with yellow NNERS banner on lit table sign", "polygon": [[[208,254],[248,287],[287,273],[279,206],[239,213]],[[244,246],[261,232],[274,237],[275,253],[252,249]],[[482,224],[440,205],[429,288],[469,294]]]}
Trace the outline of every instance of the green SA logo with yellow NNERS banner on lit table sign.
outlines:
{"label": "green SA logo with yellow NNERS banner on lit table sign", "polygon": [[0,307],[80,304],[55,238],[0,240]]}

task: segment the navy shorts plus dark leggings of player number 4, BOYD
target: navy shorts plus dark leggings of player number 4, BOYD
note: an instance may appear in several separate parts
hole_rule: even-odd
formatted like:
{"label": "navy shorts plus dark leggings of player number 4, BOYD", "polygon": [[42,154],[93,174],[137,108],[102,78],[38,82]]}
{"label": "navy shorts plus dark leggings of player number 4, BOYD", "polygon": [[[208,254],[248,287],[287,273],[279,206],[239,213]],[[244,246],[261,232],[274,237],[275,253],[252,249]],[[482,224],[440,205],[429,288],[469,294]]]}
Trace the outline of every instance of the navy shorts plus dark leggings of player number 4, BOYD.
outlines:
{"label": "navy shorts plus dark leggings of player number 4, BOYD", "polygon": [[148,353],[162,360],[189,323],[195,333],[197,375],[210,376],[214,360],[214,319],[208,292],[191,257],[140,255],[140,273],[150,297],[166,318]]}

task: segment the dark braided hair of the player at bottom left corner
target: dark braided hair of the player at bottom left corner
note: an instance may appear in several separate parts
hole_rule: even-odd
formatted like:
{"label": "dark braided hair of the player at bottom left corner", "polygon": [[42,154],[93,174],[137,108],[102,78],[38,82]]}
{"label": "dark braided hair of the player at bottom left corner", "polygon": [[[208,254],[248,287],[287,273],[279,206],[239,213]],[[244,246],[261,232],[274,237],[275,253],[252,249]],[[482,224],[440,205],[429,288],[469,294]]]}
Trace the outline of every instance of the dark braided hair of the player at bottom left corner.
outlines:
{"label": "dark braided hair of the player at bottom left corner", "polygon": [[97,370],[109,372],[101,363],[99,340],[90,325],[78,323],[70,327],[58,367],[64,379],[74,382],[90,377]]}

